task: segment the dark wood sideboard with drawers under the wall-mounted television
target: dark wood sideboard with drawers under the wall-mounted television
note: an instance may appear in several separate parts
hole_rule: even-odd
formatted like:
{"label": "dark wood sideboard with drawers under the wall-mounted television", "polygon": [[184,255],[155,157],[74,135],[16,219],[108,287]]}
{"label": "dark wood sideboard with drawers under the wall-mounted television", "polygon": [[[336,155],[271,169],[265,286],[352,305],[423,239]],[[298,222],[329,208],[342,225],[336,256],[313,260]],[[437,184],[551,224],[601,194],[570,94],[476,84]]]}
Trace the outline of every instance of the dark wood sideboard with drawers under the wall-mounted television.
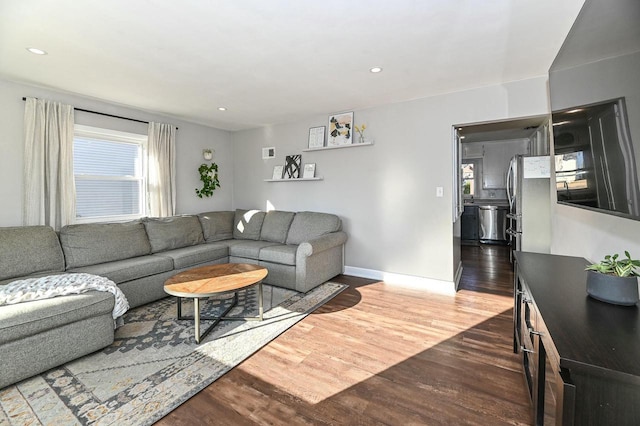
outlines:
{"label": "dark wood sideboard with drawers under the wall-mounted television", "polygon": [[587,296],[579,257],[515,252],[514,346],[536,425],[640,425],[640,309]]}

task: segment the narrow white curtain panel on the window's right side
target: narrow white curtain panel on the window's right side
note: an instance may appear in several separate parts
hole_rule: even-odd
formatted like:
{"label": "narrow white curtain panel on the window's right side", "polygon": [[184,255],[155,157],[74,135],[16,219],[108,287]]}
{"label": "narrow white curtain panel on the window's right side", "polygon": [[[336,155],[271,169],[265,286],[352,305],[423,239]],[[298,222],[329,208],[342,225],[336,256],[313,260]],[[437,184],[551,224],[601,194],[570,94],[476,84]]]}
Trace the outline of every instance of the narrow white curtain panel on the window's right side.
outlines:
{"label": "narrow white curtain panel on the window's right side", "polygon": [[147,148],[149,216],[173,216],[176,210],[176,127],[150,122]]}

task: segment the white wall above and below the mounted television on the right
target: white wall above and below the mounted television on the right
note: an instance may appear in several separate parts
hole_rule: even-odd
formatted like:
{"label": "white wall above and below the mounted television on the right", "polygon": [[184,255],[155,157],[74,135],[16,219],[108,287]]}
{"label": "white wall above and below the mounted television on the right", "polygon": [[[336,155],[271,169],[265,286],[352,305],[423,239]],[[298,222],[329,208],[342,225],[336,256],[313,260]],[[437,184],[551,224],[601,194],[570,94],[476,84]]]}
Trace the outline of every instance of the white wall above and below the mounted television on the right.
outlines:
{"label": "white wall above and below the mounted television on the right", "polygon": [[[554,110],[625,97],[636,162],[640,161],[640,52],[551,74]],[[640,221],[552,203],[551,252],[591,261],[628,250],[640,256]]]}

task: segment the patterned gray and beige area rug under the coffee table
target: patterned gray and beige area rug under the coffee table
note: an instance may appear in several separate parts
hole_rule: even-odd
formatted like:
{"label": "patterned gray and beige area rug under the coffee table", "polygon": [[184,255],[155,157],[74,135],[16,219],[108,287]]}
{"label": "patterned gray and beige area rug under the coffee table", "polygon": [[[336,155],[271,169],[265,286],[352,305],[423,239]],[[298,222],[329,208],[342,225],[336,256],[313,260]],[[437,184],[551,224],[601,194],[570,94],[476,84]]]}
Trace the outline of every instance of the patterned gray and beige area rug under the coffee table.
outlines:
{"label": "patterned gray and beige area rug under the coffee table", "polygon": [[[0,425],[152,424],[346,287],[301,294],[264,285],[264,321],[223,321],[200,345],[193,321],[176,319],[175,298],[135,308],[111,346],[0,390]],[[256,295],[239,292],[229,315],[256,316]],[[216,316],[231,301],[202,302],[203,315]],[[193,304],[182,310],[192,314]]]}

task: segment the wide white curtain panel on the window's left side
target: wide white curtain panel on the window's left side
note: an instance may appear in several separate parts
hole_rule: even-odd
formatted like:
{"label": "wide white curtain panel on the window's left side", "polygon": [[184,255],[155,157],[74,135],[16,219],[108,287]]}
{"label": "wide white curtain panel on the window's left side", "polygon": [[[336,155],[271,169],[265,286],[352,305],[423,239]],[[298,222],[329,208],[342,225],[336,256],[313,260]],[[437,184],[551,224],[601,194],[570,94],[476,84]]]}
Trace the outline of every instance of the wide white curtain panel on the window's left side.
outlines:
{"label": "wide white curtain panel on the window's left side", "polygon": [[27,98],[24,110],[24,225],[59,230],[75,219],[73,107]]}

